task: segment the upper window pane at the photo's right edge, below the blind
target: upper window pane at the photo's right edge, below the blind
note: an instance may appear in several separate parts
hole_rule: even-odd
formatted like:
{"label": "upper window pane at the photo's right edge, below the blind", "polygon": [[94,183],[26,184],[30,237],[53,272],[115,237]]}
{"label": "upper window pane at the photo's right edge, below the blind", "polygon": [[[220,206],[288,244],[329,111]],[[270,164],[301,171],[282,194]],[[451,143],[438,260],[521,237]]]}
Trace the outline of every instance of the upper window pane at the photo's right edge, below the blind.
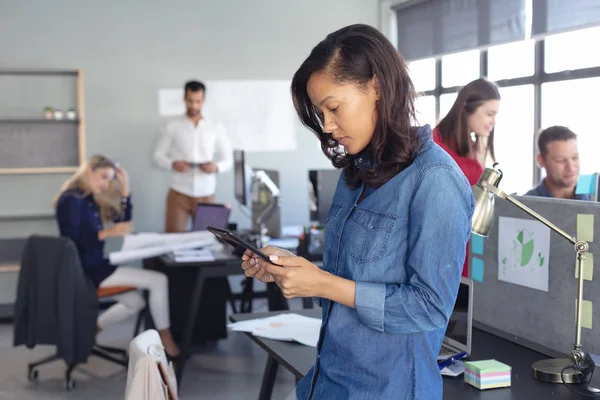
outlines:
{"label": "upper window pane at the photo's right edge, below the blind", "polygon": [[548,73],[600,66],[600,27],[551,35],[544,41]]}

